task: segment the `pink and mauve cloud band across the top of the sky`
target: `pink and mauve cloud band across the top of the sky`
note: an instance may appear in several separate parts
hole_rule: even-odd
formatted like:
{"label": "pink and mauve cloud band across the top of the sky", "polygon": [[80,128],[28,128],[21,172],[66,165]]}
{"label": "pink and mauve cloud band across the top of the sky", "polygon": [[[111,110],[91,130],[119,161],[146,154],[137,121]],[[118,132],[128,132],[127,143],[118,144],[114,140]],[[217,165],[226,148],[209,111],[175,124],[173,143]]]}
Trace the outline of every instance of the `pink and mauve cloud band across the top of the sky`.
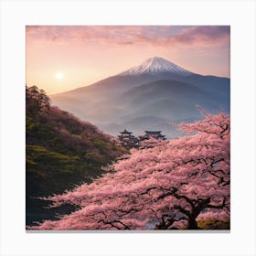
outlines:
{"label": "pink and mauve cloud band across the top of the sky", "polygon": [[229,26],[27,26],[27,41],[59,44],[171,45],[229,44]]}

